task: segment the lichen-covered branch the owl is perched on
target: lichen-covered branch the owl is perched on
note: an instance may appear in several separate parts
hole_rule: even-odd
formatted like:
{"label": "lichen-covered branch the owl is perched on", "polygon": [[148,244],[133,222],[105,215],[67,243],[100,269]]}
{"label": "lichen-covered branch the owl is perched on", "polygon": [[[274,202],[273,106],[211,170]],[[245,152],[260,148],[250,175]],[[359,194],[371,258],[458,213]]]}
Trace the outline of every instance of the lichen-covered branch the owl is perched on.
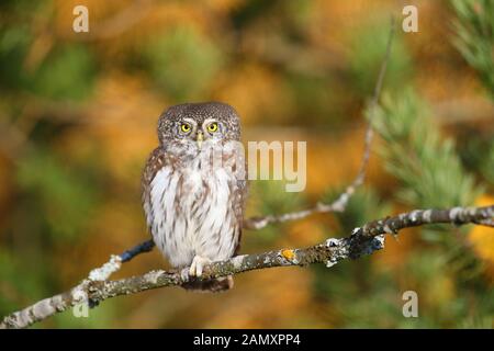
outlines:
{"label": "lichen-covered branch the owl is perched on", "polygon": [[[485,207],[453,207],[448,210],[416,210],[397,216],[373,220],[357,227],[345,238],[332,238],[303,249],[282,249],[256,254],[243,254],[205,267],[201,279],[238,274],[272,267],[325,263],[332,267],[345,259],[357,259],[384,247],[384,235],[396,235],[400,229],[427,224],[482,224],[494,219],[494,204]],[[190,278],[181,272],[162,270],[144,275],[106,281],[120,267],[121,256],[114,256],[103,267],[91,271],[89,278],[70,291],[45,298],[3,318],[0,328],[25,328],[56,313],[79,304],[98,305],[106,298],[135,294],[164,286],[180,286]]]}

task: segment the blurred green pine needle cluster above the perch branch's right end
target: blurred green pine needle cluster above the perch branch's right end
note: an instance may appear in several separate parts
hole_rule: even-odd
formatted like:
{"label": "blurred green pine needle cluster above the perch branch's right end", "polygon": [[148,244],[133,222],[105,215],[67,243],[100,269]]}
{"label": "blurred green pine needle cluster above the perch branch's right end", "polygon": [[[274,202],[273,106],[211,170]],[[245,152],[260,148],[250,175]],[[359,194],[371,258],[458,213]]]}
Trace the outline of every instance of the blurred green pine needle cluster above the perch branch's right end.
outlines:
{"label": "blurred green pine needle cluster above the perch branch's right end", "polygon": [[467,206],[481,193],[454,151],[442,138],[430,111],[411,90],[367,112],[384,140],[380,154],[402,188],[397,196],[414,207]]}

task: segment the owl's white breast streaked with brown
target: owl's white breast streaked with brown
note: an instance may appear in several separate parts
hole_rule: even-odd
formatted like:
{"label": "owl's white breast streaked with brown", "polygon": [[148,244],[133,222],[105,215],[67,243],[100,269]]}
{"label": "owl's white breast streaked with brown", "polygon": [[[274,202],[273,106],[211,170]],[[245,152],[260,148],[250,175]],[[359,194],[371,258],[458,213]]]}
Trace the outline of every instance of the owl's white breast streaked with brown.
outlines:
{"label": "owl's white breast streaked with brown", "polygon": [[150,184],[148,224],[157,247],[173,267],[199,254],[211,260],[233,256],[239,225],[233,211],[235,176],[207,169],[200,158],[172,171],[164,167]]}

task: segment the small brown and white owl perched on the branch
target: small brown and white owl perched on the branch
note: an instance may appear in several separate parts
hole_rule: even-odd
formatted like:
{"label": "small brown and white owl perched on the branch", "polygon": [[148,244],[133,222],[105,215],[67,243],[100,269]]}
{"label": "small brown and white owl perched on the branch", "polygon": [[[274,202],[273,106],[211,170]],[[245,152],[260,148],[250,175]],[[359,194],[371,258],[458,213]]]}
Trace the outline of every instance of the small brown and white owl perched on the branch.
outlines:
{"label": "small brown and white owl perched on the branch", "polygon": [[[143,173],[147,226],[173,268],[201,276],[204,264],[239,248],[247,193],[240,121],[224,103],[180,104],[159,117],[158,139]],[[182,286],[225,291],[233,278]]]}

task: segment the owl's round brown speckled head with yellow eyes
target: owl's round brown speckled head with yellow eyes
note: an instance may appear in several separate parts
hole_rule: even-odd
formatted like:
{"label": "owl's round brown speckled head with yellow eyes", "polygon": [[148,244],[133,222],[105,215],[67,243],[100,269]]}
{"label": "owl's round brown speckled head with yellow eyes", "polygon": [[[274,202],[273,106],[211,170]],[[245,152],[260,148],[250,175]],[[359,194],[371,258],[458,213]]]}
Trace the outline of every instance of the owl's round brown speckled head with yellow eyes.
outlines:
{"label": "owl's round brown speckled head with yellow eyes", "polygon": [[161,114],[158,138],[162,146],[201,149],[218,141],[239,140],[240,121],[236,111],[225,103],[184,103]]}

